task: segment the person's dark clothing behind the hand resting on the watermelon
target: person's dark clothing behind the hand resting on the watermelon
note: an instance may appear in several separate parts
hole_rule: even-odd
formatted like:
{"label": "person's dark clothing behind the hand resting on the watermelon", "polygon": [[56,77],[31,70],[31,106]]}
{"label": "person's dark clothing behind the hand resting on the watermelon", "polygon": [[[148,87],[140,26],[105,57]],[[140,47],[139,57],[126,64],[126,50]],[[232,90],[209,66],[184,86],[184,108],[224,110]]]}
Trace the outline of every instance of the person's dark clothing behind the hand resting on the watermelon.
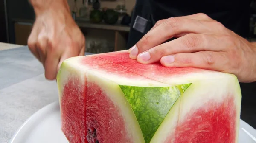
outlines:
{"label": "person's dark clothing behind the hand resting on the watermelon", "polygon": [[[158,20],[196,13],[207,14],[236,34],[249,36],[252,0],[136,0],[127,48],[131,48]],[[137,15],[150,20],[144,33],[133,29]]]}

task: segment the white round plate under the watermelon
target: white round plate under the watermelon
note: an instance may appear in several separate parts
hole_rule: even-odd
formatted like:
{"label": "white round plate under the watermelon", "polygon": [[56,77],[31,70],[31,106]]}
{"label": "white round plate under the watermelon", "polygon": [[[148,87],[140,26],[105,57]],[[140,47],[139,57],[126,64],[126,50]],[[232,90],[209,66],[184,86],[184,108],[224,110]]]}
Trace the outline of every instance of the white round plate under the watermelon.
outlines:
{"label": "white round plate under the watermelon", "polygon": [[[68,143],[61,132],[59,103],[54,102],[32,115],[10,143]],[[239,143],[256,143],[256,130],[240,120]]]}

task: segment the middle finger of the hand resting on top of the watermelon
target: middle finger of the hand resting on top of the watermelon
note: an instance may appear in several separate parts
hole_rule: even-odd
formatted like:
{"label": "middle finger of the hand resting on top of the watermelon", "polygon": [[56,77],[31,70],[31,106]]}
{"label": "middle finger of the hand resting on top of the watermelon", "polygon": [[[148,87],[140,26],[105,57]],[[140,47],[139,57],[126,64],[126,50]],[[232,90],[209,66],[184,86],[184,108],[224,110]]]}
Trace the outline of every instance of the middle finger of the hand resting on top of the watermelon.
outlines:
{"label": "middle finger of the hand resting on top of the watermelon", "polygon": [[143,64],[157,62],[163,56],[175,53],[191,53],[201,50],[220,51],[219,39],[212,35],[187,34],[170,42],[151,48],[137,57],[137,61]]}

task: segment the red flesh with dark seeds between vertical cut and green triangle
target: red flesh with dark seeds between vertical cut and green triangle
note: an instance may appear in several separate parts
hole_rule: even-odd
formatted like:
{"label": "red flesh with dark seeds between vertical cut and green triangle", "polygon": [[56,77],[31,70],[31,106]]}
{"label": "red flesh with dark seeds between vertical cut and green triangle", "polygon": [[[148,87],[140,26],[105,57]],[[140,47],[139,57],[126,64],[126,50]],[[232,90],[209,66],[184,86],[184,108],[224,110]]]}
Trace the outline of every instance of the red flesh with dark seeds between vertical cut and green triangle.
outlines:
{"label": "red flesh with dark seeds between vertical cut and green triangle", "polygon": [[[87,82],[87,140],[89,143],[131,143],[132,140],[127,136],[125,121],[119,115],[120,109],[107,98],[108,96],[99,85]],[[99,102],[100,101],[100,102]],[[100,112],[99,112],[100,111]],[[85,134],[84,134],[85,135]]]}

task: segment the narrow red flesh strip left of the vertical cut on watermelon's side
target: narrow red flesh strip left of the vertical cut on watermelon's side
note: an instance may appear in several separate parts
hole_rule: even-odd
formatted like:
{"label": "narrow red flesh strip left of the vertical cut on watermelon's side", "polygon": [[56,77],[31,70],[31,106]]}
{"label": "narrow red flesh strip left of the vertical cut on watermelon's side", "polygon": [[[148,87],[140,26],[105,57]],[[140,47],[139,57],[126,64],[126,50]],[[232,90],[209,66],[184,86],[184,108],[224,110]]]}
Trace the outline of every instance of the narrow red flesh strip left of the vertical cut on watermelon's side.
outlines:
{"label": "narrow red flesh strip left of the vertical cut on watermelon's side", "polygon": [[[74,88],[74,85],[77,85]],[[70,76],[64,85],[61,99],[62,130],[71,143],[85,143],[86,121],[85,86],[78,78]],[[74,104],[76,103],[76,104]],[[69,105],[69,106],[67,106]],[[70,106],[72,108],[70,108]],[[80,118],[77,118],[80,117]],[[79,125],[79,126],[77,126]]]}

